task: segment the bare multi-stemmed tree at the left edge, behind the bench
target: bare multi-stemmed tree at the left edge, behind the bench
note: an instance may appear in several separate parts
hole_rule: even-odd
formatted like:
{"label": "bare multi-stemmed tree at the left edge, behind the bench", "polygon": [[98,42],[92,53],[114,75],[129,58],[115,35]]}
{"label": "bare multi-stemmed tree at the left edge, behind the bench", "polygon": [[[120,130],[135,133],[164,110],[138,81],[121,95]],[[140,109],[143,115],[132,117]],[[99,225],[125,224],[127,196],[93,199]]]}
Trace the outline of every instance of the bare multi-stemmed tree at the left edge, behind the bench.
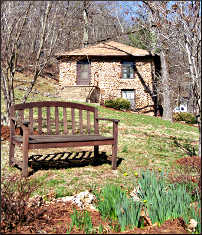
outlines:
{"label": "bare multi-stemmed tree at the left edge, behind the bench", "polygon": [[[3,5],[2,34],[4,40],[2,40],[1,48],[3,54],[3,61],[1,61],[1,84],[8,116],[10,113],[10,106],[15,102],[14,78],[21,46],[20,39],[31,8],[31,3],[26,7],[22,6],[23,9],[19,12],[18,17],[15,17],[12,12],[11,4],[12,3],[10,2],[8,3],[8,8],[5,2]],[[17,8],[19,6],[15,5],[14,7]]]}

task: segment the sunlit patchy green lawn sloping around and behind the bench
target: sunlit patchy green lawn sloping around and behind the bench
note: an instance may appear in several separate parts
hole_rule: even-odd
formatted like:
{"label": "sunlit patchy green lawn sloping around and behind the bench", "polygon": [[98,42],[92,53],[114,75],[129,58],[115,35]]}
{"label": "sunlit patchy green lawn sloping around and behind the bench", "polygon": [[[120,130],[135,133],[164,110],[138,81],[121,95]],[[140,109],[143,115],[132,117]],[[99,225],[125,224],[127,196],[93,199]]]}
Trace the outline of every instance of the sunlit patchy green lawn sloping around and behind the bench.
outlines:
{"label": "sunlit patchy green lawn sloping around and behind the bench", "polygon": [[[23,78],[21,78],[23,80]],[[26,78],[27,79],[27,78]],[[61,98],[48,98],[44,96],[44,92],[55,94],[54,81],[47,81],[42,78],[36,86],[39,94],[32,93],[28,101],[41,101],[41,100],[61,100]],[[23,85],[21,85],[22,87]],[[16,88],[17,103],[20,101],[24,92]],[[3,96],[2,96],[3,97]],[[77,101],[76,101],[77,102]],[[85,190],[86,187],[99,185],[102,187],[106,183],[123,184],[125,188],[130,188],[135,170],[140,169],[153,169],[158,170],[171,170],[177,172],[175,161],[179,158],[188,156],[187,151],[195,149],[198,151],[197,141],[199,138],[198,129],[193,126],[184,125],[180,123],[172,123],[170,121],[162,120],[161,118],[146,116],[143,114],[136,114],[130,112],[123,112],[118,110],[111,110],[99,106],[98,104],[88,104],[98,107],[100,117],[119,119],[118,126],[118,157],[122,160],[117,168],[117,173],[113,173],[109,163],[103,163],[98,166],[85,166],[73,167],[70,169],[57,169],[57,170],[39,170],[35,172],[31,178],[41,178],[44,183],[41,193],[46,193],[52,187],[57,188],[65,187],[69,192],[78,192]],[[2,111],[4,103],[2,100]],[[59,110],[61,113],[61,110]],[[60,114],[62,115],[62,114]],[[77,114],[78,115],[78,114]],[[62,116],[61,116],[62,118]],[[105,135],[112,134],[112,123],[100,121],[101,133]],[[4,151],[4,143],[2,144],[2,158],[8,161],[7,153]],[[8,148],[8,146],[6,147]],[[47,154],[61,151],[80,151],[90,150],[92,147],[71,148],[71,149],[48,149],[37,150],[37,153]],[[100,151],[106,152],[108,156],[111,155],[111,146],[100,146]],[[32,151],[33,154],[35,151]],[[30,153],[31,154],[31,153]],[[19,156],[21,152],[19,153]],[[2,169],[3,170],[3,169]],[[15,169],[14,171],[19,171]],[[86,173],[87,172],[87,173]],[[123,176],[127,172],[128,176]],[[54,175],[57,182],[47,181],[50,176]],[[60,182],[61,181],[61,182]],[[59,190],[59,189],[58,189]]]}

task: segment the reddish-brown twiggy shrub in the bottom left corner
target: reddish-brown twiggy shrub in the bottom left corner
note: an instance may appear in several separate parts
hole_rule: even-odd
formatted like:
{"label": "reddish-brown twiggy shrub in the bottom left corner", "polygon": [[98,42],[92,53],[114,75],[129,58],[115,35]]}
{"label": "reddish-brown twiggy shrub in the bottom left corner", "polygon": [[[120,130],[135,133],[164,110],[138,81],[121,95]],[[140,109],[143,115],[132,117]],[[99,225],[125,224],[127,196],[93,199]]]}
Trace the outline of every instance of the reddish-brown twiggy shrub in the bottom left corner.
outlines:
{"label": "reddish-brown twiggy shrub in the bottom left corner", "polygon": [[1,232],[12,231],[18,224],[34,219],[38,208],[27,207],[31,194],[38,187],[20,176],[2,177],[1,181]]}

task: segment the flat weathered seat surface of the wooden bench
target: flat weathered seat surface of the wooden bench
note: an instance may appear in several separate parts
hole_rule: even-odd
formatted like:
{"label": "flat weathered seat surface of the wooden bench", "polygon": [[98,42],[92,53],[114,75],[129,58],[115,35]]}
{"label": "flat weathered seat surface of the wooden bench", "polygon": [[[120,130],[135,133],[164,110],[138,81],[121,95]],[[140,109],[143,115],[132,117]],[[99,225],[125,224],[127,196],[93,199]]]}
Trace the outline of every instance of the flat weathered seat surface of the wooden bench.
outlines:
{"label": "flat weathered seat surface of the wooden bench", "polygon": [[[22,136],[14,136],[13,140],[17,143],[22,143]],[[85,141],[104,141],[104,140],[113,140],[113,137],[106,137],[102,135],[79,135],[79,136],[62,136],[62,135],[53,135],[53,136],[29,136],[30,144],[42,144],[42,143],[65,143],[65,142],[85,142]]]}

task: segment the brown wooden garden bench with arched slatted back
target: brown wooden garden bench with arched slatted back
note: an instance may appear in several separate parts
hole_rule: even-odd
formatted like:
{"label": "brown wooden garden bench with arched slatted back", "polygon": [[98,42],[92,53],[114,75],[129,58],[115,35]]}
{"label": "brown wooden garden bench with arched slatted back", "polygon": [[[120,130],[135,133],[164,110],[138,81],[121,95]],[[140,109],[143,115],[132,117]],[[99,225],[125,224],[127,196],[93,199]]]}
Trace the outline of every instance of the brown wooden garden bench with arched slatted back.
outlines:
{"label": "brown wooden garden bench with arched slatted back", "polygon": [[[99,134],[99,120],[113,122],[113,134]],[[11,106],[9,165],[15,164],[15,145],[22,146],[22,175],[28,176],[29,149],[112,145],[112,169],[117,164],[118,122],[116,119],[98,118],[98,110],[72,102],[44,101]],[[16,125],[21,135],[15,135]],[[37,131],[37,135],[33,133]]]}

